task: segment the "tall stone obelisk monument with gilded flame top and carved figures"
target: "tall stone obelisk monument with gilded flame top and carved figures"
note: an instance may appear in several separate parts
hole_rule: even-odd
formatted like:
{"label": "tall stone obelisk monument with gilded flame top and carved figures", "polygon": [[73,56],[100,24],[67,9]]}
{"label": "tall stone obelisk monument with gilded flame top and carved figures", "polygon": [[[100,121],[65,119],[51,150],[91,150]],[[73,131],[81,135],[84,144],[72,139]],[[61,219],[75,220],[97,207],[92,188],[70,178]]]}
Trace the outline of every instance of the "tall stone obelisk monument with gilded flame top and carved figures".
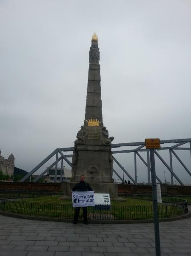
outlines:
{"label": "tall stone obelisk monument with gilded flame top and carved figures", "polygon": [[77,133],[72,158],[72,177],[68,195],[80,175],[90,183],[98,193],[110,193],[117,197],[117,184],[114,183],[113,157],[108,130],[103,125],[100,84],[100,51],[98,38],[94,33],[89,51],[88,88],[84,124]]}

